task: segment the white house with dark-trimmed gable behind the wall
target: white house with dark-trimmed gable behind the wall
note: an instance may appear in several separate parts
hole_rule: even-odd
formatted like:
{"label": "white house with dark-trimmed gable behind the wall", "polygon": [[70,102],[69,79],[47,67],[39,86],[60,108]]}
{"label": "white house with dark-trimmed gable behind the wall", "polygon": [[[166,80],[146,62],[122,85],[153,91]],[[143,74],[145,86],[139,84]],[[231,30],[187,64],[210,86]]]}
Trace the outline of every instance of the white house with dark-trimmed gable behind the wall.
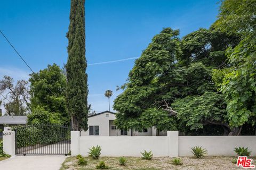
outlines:
{"label": "white house with dark-trimmed gable behind the wall", "polygon": [[114,124],[116,115],[114,112],[101,112],[88,116],[87,131],[82,131],[81,136],[156,136],[155,128],[144,129],[143,131],[132,131],[117,129]]}

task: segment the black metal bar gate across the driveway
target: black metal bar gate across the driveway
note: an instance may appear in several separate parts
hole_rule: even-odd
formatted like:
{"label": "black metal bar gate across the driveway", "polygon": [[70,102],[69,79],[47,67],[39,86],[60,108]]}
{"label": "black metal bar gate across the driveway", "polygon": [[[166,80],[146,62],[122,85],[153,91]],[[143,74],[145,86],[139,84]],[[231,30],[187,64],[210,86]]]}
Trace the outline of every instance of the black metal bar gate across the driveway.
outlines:
{"label": "black metal bar gate across the driveway", "polygon": [[69,155],[70,128],[30,125],[15,128],[16,155]]}

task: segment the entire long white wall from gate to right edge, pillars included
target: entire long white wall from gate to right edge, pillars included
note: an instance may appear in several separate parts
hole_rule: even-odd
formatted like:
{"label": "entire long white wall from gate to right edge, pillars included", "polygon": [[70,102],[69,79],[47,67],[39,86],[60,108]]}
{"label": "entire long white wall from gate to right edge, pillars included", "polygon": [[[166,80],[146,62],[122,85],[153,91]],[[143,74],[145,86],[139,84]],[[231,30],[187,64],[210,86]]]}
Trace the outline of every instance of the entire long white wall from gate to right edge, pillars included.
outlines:
{"label": "entire long white wall from gate to right edge, pillars included", "polygon": [[[71,135],[72,137],[72,135]],[[178,131],[168,131],[165,137],[77,137],[71,145],[79,143],[76,152],[87,156],[89,148],[101,146],[102,156],[141,156],[140,152],[152,151],[155,157],[192,156],[191,148],[202,146],[209,156],[235,156],[235,147],[248,147],[256,156],[256,136],[180,136]],[[76,144],[77,145],[77,144]]]}

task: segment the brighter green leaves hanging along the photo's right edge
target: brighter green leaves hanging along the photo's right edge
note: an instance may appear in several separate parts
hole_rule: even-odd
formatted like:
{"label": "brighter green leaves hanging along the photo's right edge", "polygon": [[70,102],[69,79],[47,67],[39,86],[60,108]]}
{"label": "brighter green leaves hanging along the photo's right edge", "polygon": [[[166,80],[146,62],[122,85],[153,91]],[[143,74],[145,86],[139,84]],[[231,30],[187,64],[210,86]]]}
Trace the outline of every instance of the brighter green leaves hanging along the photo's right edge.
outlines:
{"label": "brighter green leaves hanging along the photo's right edge", "polygon": [[229,67],[214,70],[213,79],[225,96],[231,126],[256,123],[256,38],[255,0],[226,0],[221,3],[214,27],[223,32],[241,33],[236,47],[226,50]]}

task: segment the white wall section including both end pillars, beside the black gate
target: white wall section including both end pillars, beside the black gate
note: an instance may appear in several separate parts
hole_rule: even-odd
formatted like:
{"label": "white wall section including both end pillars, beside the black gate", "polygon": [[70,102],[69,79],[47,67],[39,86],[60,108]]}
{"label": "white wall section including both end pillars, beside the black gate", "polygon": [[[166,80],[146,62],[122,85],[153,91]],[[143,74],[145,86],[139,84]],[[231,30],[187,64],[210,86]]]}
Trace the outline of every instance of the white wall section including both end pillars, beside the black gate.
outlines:
{"label": "white wall section including both end pillars, beside the black gate", "polygon": [[[101,156],[141,156],[144,150],[152,151],[155,157],[177,156],[175,140],[178,142],[178,131],[168,133],[166,137],[77,137],[79,132],[71,132],[71,155],[77,153],[87,156],[89,148],[101,146]],[[171,140],[174,139],[174,140]],[[79,147],[73,146],[79,143]],[[73,146],[73,147],[72,147]]]}

